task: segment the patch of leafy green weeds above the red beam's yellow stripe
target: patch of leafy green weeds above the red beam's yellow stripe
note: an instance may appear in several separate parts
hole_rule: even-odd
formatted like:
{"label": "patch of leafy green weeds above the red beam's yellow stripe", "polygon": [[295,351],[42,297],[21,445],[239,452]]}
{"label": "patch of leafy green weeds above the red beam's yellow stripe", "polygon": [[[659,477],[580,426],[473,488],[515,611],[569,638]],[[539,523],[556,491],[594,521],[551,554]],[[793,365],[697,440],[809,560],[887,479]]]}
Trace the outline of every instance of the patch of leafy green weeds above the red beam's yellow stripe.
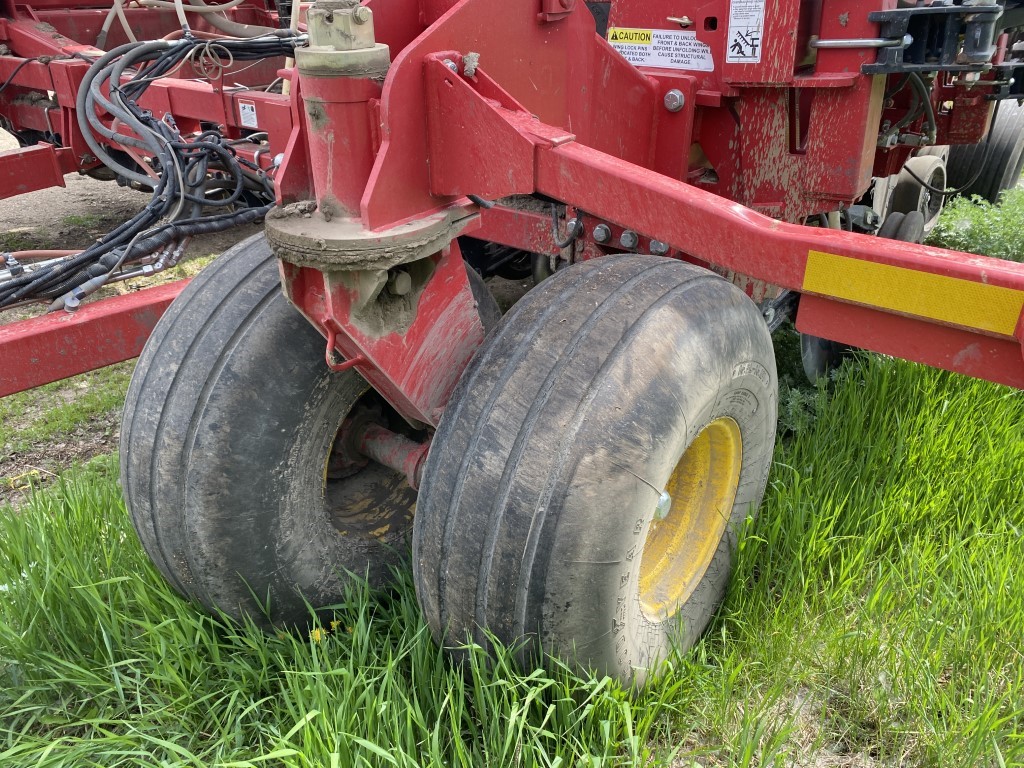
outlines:
{"label": "patch of leafy green weeds above the red beam's yellow stripe", "polygon": [[1024,261],[1024,189],[1006,191],[993,206],[981,198],[946,204],[929,244],[1000,259]]}

